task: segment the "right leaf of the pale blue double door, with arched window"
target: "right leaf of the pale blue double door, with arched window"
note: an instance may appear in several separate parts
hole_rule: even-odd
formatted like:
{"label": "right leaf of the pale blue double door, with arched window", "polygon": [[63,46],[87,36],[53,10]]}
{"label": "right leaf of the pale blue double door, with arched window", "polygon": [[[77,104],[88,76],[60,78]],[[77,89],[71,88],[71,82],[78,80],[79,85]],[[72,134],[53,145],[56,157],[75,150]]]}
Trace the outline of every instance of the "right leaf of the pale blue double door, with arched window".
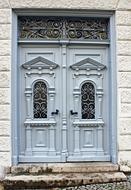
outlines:
{"label": "right leaf of the pale blue double door, with arched window", "polygon": [[67,161],[109,161],[106,47],[68,48]]}

